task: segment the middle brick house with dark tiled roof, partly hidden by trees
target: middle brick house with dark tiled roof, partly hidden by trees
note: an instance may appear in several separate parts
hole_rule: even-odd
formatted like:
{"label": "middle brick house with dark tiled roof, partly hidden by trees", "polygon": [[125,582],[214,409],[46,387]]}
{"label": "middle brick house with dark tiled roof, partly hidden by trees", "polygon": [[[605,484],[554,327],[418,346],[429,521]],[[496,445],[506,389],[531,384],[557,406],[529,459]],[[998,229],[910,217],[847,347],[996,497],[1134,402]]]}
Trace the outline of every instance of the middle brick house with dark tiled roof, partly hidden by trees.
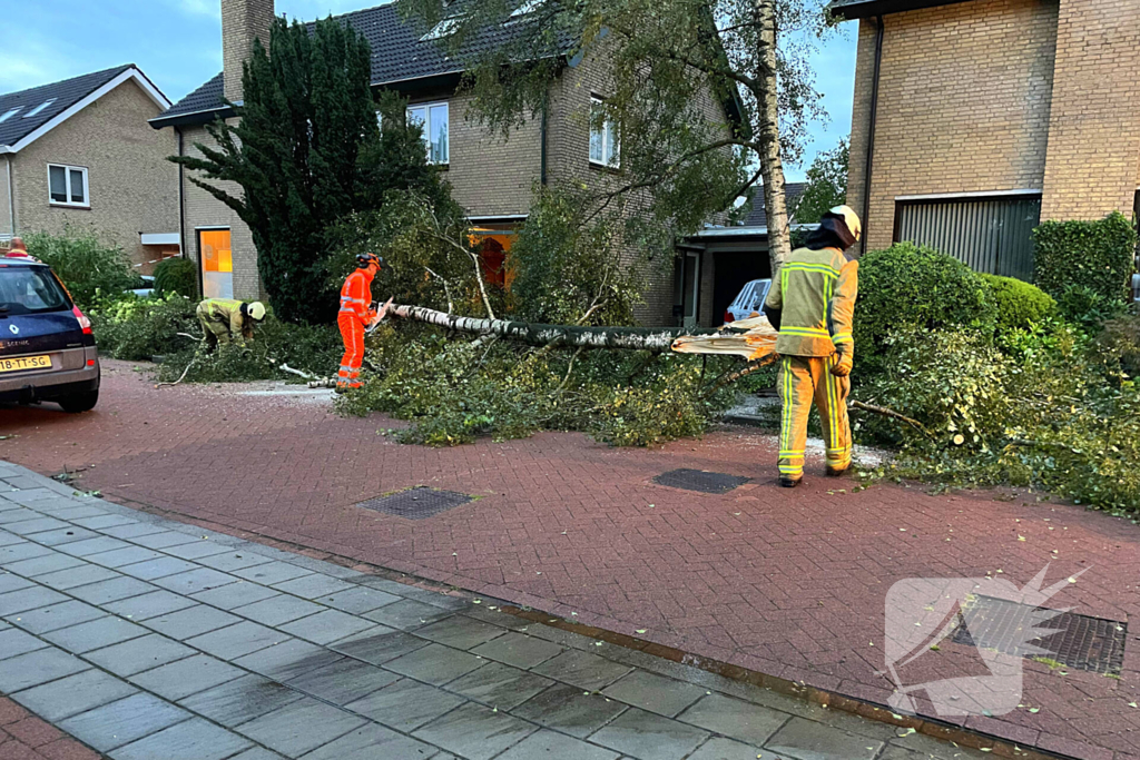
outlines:
{"label": "middle brick house with dark tiled roof, partly hidden by trees", "polygon": [[[193,155],[195,144],[211,144],[205,125],[233,116],[223,98],[241,103],[242,62],[254,39],[268,40],[272,0],[221,0],[221,9],[223,71],[150,120],[157,130],[173,128],[179,155]],[[567,56],[546,112],[527,120],[504,140],[464,117],[467,98],[457,93],[463,68],[443,55],[432,31],[425,33],[405,22],[392,5],[339,18],[372,46],[373,89],[399,92],[408,99],[408,117],[424,124],[429,158],[445,172],[453,197],[483,238],[484,256],[502,258],[510,248],[515,230],[527,219],[536,186],[572,179],[608,187],[620,179],[613,130],[592,129],[589,123],[594,104],[608,92],[604,43],[585,55]],[[495,35],[488,39],[494,43]],[[708,117],[726,131],[730,120],[739,120],[739,100],[719,103],[703,92],[697,97],[702,98]],[[188,177],[180,175],[178,187],[184,251],[199,262],[203,292],[207,296],[262,296],[249,229]],[[228,190],[238,193],[237,188]],[[638,314],[643,322],[677,322],[675,269],[673,261],[657,268]]]}

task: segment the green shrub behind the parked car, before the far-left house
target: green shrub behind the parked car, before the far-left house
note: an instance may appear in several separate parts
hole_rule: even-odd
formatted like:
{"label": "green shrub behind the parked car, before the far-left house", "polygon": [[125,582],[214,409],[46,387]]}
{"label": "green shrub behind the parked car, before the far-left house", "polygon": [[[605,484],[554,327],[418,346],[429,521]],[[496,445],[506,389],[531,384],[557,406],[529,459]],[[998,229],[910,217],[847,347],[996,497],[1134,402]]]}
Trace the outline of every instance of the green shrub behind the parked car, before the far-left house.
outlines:
{"label": "green shrub behind the parked car, before the far-left house", "polygon": [[24,238],[27,252],[51,267],[84,311],[99,295],[117,297],[138,287],[123,250],[99,240],[91,232],[68,227],[62,235],[33,232]]}

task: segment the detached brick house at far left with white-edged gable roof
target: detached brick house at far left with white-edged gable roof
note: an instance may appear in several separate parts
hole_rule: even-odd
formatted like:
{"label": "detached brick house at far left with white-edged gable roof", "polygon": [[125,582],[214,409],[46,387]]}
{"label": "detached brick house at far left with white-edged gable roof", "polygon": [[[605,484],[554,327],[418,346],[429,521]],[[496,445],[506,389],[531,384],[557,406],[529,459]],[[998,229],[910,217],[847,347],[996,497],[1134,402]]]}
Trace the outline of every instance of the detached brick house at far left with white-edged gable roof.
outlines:
{"label": "detached brick house at far left with white-edged gable roof", "polygon": [[90,228],[149,271],[178,245],[170,101],[133,64],[0,95],[0,240]]}

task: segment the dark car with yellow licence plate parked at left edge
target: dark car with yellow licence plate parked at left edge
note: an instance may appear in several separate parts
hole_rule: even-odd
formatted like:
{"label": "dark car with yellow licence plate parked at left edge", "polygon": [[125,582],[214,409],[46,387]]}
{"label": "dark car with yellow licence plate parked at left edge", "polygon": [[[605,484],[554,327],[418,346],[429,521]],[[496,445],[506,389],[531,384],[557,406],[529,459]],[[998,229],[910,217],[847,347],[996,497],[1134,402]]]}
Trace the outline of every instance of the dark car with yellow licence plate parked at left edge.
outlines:
{"label": "dark car with yellow licence plate parked at left edge", "polygon": [[0,402],[88,411],[98,400],[91,321],[47,264],[0,256]]}

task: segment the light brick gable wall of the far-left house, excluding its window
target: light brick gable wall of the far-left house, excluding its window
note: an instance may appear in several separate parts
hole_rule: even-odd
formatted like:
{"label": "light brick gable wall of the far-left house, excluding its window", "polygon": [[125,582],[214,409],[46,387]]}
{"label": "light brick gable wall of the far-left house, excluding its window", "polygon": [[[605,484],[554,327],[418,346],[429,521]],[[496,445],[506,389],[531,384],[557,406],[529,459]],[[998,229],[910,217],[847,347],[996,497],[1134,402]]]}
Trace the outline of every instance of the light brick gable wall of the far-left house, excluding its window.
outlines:
{"label": "light brick gable wall of the far-left house, excluding its window", "polygon": [[[121,245],[136,263],[155,258],[139,232],[178,230],[178,167],[166,161],[174,138],[146,123],[160,112],[127,81],[10,156],[17,232],[62,232],[72,224]],[[49,163],[87,167],[90,210],[49,204]]]}

